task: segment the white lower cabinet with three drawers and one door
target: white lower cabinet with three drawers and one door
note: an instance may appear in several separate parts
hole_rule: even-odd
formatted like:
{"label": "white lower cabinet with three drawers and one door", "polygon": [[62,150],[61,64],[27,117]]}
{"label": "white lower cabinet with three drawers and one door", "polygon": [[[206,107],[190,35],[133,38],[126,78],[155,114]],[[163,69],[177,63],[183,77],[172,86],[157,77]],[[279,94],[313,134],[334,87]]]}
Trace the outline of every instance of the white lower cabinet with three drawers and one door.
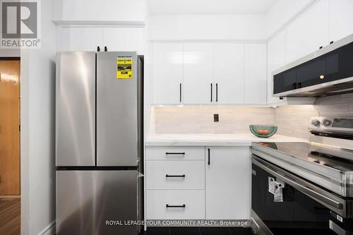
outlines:
{"label": "white lower cabinet with three drawers and one door", "polygon": [[247,146],[148,146],[146,219],[249,219],[250,172]]}

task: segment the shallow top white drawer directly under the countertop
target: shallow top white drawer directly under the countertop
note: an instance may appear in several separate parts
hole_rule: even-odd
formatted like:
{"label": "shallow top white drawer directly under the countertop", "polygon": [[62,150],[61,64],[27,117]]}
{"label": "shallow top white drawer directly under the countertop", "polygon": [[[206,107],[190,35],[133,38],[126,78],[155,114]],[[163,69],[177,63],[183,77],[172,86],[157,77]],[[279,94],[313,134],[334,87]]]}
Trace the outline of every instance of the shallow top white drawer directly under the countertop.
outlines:
{"label": "shallow top white drawer directly under the countertop", "polygon": [[169,147],[169,146],[149,146],[146,147],[147,160],[204,160],[205,147]]}

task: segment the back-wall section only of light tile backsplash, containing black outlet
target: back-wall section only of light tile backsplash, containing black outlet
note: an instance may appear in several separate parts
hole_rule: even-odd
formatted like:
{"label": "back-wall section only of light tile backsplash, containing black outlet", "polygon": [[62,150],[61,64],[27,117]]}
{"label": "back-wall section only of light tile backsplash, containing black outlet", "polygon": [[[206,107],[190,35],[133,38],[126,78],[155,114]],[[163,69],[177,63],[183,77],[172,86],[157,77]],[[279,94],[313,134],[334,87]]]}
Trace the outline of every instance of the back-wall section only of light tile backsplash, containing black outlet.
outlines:
{"label": "back-wall section only of light tile backsplash, containing black outlet", "polygon": [[[155,133],[248,133],[249,124],[274,123],[269,107],[154,107]],[[213,121],[219,114],[220,121]]]}

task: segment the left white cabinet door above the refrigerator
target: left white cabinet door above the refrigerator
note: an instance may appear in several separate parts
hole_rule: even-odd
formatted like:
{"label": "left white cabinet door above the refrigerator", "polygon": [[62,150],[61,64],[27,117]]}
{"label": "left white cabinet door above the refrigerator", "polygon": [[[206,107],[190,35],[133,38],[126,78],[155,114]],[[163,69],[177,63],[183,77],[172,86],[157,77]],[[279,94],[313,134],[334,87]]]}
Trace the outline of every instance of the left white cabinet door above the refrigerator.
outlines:
{"label": "left white cabinet door above the refrigerator", "polygon": [[69,27],[62,29],[63,52],[96,52],[103,46],[102,28]]}

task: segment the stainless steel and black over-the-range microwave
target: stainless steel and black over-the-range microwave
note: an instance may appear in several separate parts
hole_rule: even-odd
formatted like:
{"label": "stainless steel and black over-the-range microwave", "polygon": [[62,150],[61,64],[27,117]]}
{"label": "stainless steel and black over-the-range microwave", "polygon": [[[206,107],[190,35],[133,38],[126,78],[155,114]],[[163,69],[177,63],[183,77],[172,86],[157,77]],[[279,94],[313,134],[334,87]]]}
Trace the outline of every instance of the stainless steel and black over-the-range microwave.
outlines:
{"label": "stainless steel and black over-the-range microwave", "polygon": [[353,92],[353,35],[273,71],[274,97]]}

